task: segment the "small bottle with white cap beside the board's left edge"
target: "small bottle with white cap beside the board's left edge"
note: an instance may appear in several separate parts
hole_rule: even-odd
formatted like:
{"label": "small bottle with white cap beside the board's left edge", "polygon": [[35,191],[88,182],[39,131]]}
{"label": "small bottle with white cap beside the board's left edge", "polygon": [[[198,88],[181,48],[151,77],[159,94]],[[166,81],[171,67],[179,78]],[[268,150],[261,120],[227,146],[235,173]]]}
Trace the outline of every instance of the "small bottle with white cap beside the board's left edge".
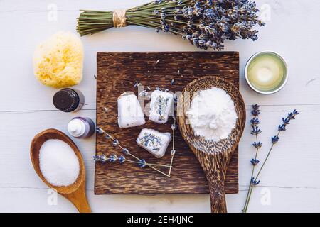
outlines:
{"label": "small bottle with white cap beside the board's left edge", "polygon": [[95,123],[91,118],[77,116],[68,123],[68,133],[75,138],[89,138],[95,133]]}

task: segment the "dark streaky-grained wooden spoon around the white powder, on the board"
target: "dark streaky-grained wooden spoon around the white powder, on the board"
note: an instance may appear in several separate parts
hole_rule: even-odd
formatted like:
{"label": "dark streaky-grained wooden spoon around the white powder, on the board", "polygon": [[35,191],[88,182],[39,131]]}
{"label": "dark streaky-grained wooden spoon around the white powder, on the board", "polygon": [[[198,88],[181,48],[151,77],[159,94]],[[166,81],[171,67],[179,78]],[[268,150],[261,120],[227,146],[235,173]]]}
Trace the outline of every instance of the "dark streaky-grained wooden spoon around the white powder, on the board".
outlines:
{"label": "dark streaky-grained wooden spoon around the white powder, on the board", "polygon": [[[229,137],[219,142],[211,142],[194,135],[191,124],[188,123],[186,111],[191,104],[193,96],[199,91],[218,87],[225,90],[235,104],[235,111],[238,120],[235,128],[231,131]],[[214,97],[213,97],[214,98]],[[211,212],[227,212],[225,203],[225,174],[228,169],[230,158],[237,147],[245,128],[245,104],[242,96],[233,84],[220,77],[201,77],[188,84],[178,99],[178,126],[183,139],[190,146],[193,153],[203,168],[208,179]]]}

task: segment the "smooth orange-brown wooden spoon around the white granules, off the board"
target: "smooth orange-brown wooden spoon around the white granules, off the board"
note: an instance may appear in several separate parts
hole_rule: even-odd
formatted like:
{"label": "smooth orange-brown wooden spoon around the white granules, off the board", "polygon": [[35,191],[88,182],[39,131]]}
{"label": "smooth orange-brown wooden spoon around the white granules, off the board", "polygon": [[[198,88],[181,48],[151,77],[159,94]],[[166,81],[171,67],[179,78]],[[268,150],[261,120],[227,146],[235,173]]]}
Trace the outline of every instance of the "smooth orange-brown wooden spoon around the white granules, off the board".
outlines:
{"label": "smooth orange-brown wooden spoon around the white granules, off the board", "polygon": [[[79,164],[80,164],[80,172],[77,180],[66,187],[57,187],[50,184],[40,170],[39,165],[39,152],[40,148],[46,140],[50,139],[58,139],[63,140],[65,143],[68,143],[71,148],[75,151],[75,155],[77,155]],[[78,150],[73,140],[71,140],[68,135],[65,133],[58,131],[56,129],[50,128],[46,131],[43,131],[36,135],[32,142],[30,148],[30,156],[34,170],[38,176],[45,182],[48,187],[55,189],[59,194],[63,195],[65,198],[69,199],[75,207],[78,209],[80,213],[90,213],[91,209],[87,202],[87,196],[85,195],[85,163],[83,162],[80,151]]]}

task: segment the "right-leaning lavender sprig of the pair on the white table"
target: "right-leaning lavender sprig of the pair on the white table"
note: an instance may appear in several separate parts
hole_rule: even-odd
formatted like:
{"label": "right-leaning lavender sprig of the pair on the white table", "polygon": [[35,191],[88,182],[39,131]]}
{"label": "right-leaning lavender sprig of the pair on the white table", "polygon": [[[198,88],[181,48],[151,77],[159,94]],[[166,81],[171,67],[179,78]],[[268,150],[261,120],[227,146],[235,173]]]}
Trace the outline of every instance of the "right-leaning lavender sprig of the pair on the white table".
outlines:
{"label": "right-leaning lavender sprig of the pair on the white table", "polygon": [[[252,114],[259,114],[260,112],[255,110],[255,106],[253,106],[254,110],[252,111]],[[279,142],[279,135],[282,131],[286,131],[287,130],[287,126],[290,124],[290,121],[294,120],[295,117],[299,114],[299,112],[297,110],[294,109],[294,111],[292,111],[291,113],[289,113],[287,115],[286,118],[282,118],[282,124],[278,126],[278,131],[277,131],[277,135],[274,135],[272,138],[271,138],[271,142],[272,142],[272,145],[270,147],[270,150],[269,152],[267,153],[267,156],[265,157],[265,160],[264,162],[262,162],[262,165],[260,167],[260,170],[257,172],[257,175],[255,177],[253,177],[253,174],[250,178],[250,186],[249,186],[249,190],[248,190],[248,193],[247,193],[247,198],[245,200],[245,206],[244,208],[242,209],[242,212],[246,213],[247,212],[247,207],[249,206],[249,202],[250,202],[250,197],[251,197],[251,194],[252,194],[252,190],[254,187],[257,186],[257,184],[260,184],[260,180],[258,179],[259,176],[260,176],[260,173],[263,169],[263,167],[265,166],[265,163],[267,162],[268,158],[270,157],[270,153],[272,151],[272,148],[274,148],[274,145],[277,144]],[[253,126],[252,126],[253,127]],[[257,143],[255,144],[257,145]],[[254,146],[255,146],[254,145]],[[251,160],[251,163],[253,165],[252,167],[252,172],[254,172],[254,168],[255,166],[259,163],[259,161],[255,158],[255,159],[252,159]]]}

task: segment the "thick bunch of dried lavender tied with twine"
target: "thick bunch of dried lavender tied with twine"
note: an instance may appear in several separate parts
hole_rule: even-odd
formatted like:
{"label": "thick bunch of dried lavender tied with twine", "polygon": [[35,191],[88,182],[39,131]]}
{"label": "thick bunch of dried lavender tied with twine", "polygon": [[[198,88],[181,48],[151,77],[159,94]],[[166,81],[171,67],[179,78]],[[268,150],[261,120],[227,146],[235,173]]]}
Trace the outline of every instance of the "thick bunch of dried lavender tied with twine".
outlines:
{"label": "thick bunch of dried lavender tied with twine", "polygon": [[181,35],[197,48],[222,50],[224,40],[257,40],[257,6],[250,0],[156,0],[127,11],[80,10],[77,31],[93,34],[127,25]]}

